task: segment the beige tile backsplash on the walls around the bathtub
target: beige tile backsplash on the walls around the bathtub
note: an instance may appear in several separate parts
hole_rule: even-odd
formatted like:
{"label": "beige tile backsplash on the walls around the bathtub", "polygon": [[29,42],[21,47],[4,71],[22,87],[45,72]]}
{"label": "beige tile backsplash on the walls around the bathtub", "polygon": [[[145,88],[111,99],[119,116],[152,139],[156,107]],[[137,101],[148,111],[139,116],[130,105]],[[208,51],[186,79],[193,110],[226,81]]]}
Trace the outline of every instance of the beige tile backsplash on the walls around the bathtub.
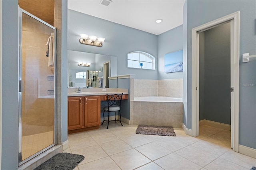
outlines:
{"label": "beige tile backsplash on the walls around the bathtub", "polygon": [[182,98],[182,79],[144,80],[134,79],[134,97],[166,96]]}

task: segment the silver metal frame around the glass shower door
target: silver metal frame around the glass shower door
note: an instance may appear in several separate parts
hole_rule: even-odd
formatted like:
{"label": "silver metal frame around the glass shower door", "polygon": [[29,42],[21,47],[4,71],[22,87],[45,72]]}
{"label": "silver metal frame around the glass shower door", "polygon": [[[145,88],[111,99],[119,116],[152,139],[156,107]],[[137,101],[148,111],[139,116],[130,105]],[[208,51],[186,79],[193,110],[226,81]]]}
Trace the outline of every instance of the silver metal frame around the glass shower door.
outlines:
{"label": "silver metal frame around the glass shower door", "polygon": [[[47,146],[46,148],[40,150],[39,152],[36,152],[35,154],[29,156],[28,158],[22,160],[22,13],[34,18],[35,20],[41,22],[42,24],[52,28],[54,30],[54,141],[53,144]],[[56,56],[57,56],[57,29],[54,26],[51,26],[50,24],[44,22],[40,18],[30,14],[29,12],[23,10],[22,8],[19,8],[19,95],[18,95],[18,166],[28,162],[29,160],[35,158],[42,152],[52,148],[56,145]]]}

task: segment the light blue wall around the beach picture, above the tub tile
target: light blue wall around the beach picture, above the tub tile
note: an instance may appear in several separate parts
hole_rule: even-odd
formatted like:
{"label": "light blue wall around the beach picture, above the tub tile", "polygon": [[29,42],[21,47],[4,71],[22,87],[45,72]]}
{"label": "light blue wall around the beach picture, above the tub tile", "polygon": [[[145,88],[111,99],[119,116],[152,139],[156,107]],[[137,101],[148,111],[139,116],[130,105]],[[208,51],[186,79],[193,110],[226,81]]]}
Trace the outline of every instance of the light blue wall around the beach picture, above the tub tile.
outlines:
{"label": "light blue wall around the beach picture, above the tub tile", "polygon": [[164,73],[164,55],[179,51],[182,46],[183,27],[178,26],[157,36],[158,46],[158,80],[160,79],[182,79],[182,72]]}

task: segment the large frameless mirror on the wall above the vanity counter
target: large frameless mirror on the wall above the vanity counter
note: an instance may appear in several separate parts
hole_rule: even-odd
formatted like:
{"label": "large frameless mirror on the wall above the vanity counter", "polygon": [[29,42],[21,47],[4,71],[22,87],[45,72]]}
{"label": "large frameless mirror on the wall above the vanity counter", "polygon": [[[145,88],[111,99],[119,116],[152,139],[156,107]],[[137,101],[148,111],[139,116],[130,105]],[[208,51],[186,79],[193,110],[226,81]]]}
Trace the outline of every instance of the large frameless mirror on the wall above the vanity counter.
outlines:
{"label": "large frameless mirror on the wall above the vanity counter", "polygon": [[[80,62],[90,66],[78,66]],[[108,80],[117,75],[116,64],[115,56],[68,50],[68,87],[117,88]]]}

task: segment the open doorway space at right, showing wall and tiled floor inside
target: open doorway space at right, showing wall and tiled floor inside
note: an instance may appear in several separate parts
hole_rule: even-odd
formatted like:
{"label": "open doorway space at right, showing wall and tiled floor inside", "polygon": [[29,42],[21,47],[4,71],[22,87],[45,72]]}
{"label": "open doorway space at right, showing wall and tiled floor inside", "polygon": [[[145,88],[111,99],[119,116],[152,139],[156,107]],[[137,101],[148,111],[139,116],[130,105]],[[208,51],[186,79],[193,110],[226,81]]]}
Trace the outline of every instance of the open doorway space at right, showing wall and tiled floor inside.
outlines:
{"label": "open doorway space at right, showing wall and tiled floor inside", "polygon": [[230,148],[230,22],[199,32],[198,91],[199,137]]}

